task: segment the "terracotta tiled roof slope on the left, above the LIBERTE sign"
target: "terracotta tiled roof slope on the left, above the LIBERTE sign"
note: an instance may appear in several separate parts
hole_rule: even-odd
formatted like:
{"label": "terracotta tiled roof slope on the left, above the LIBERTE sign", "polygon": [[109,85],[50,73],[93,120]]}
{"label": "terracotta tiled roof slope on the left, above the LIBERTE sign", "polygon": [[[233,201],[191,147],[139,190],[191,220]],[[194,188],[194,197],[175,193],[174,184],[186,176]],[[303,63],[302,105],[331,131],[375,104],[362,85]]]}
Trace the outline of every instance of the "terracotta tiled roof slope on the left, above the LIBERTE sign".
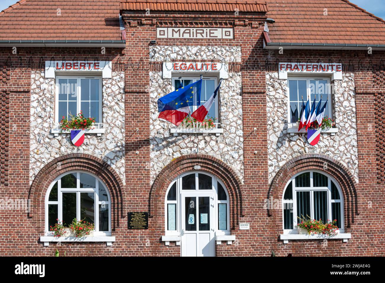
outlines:
{"label": "terracotta tiled roof slope on the left, above the LIBERTE sign", "polygon": [[19,0],[0,12],[0,40],[121,40],[119,11],[117,0]]}

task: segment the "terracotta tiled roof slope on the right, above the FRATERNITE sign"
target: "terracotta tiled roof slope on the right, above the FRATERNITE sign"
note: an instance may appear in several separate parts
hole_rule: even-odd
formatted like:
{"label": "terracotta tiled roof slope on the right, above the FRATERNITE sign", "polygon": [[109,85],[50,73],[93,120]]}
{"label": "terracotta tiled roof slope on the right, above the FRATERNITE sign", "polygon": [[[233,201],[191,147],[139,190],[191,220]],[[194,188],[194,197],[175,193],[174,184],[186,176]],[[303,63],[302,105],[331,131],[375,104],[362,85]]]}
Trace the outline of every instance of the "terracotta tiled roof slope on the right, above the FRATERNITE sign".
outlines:
{"label": "terracotta tiled roof slope on the right, above the FRATERNITE sign", "polygon": [[385,22],[348,0],[266,3],[266,15],[275,20],[268,25],[271,42],[385,44]]}

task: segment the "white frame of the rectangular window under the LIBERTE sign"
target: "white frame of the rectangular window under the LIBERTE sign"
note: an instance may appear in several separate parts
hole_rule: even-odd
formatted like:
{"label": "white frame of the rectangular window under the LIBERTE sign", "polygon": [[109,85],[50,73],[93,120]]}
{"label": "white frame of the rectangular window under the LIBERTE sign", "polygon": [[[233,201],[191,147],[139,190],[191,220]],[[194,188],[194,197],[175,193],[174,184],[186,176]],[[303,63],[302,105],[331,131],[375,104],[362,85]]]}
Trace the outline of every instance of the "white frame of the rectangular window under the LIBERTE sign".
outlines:
{"label": "white frame of the rectangular window under the LIBERTE sign", "polygon": [[[76,113],[72,113],[72,115],[79,114],[81,108],[81,85],[80,80],[82,79],[98,79],[99,80],[99,119],[100,121],[97,121],[98,124],[101,124],[103,122],[103,116],[102,116],[102,88],[103,88],[103,81],[101,76],[78,76],[78,75],[72,75],[72,76],[56,76],[55,78],[55,124],[59,124],[59,79],[77,79],[77,107],[76,107]],[[67,90],[68,91],[68,90]],[[67,92],[68,93],[68,92]],[[74,100],[75,101],[75,100]],[[87,117],[88,118],[88,117]]]}

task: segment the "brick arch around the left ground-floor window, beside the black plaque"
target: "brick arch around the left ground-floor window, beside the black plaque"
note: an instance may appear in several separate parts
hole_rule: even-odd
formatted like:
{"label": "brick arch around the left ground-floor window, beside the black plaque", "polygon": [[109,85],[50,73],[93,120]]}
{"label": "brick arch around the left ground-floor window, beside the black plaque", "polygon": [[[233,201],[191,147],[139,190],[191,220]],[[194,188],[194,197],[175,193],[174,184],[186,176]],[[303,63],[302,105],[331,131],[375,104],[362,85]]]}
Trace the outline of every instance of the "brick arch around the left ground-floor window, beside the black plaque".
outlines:
{"label": "brick arch around the left ground-floor window, beside the black plaque", "polygon": [[89,154],[74,153],[60,156],[49,162],[32,182],[28,195],[31,204],[29,216],[32,217],[40,232],[44,232],[45,194],[50,184],[61,174],[72,170],[90,172],[102,180],[111,197],[111,228],[117,227],[119,218],[124,217],[121,178],[102,159]]}

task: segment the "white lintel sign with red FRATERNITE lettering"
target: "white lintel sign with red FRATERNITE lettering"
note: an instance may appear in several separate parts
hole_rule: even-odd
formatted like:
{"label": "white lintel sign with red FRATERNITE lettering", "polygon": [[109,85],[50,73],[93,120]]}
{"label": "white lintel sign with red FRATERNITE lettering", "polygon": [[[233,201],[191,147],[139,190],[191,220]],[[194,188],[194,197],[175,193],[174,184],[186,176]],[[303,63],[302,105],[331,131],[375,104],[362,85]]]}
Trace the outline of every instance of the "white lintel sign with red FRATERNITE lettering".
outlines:
{"label": "white lintel sign with red FRATERNITE lettering", "polygon": [[280,79],[287,79],[288,73],[330,74],[332,80],[342,80],[342,64],[338,63],[280,63]]}

